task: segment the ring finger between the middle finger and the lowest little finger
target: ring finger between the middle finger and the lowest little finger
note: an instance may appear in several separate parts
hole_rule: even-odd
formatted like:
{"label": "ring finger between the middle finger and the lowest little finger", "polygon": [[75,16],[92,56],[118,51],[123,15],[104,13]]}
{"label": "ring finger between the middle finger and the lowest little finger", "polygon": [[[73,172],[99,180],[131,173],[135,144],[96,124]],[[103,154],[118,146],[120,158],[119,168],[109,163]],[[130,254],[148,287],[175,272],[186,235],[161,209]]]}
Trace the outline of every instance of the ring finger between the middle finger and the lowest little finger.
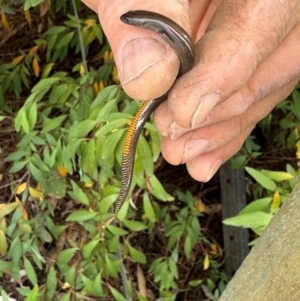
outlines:
{"label": "ring finger between the middle finger and the lowest little finger", "polygon": [[[237,136],[248,131],[248,128],[253,128],[281,99],[289,95],[296,82],[294,81],[254,103],[241,115],[195,129],[177,140],[163,138],[161,142],[163,156],[169,163],[178,165],[190,162],[200,154],[212,152],[230,143],[230,141],[234,141]],[[231,155],[235,152],[236,147],[233,148]]]}

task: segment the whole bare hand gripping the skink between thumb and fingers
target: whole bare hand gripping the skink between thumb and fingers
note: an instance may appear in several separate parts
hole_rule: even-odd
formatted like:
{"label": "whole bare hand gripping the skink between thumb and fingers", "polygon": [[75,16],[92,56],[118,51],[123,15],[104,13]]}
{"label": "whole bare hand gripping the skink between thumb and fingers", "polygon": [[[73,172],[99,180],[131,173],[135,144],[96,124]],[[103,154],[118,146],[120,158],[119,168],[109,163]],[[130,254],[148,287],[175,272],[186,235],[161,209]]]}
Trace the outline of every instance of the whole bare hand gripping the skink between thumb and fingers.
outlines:
{"label": "whole bare hand gripping the skink between thumb and fingers", "polygon": [[158,12],[196,42],[195,67],[176,80],[154,116],[163,156],[174,165],[186,163],[196,180],[208,181],[299,81],[300,1],[83,2],[98,13],[131,97],[163,95],[179,60],[157,34],[123,24],[123,13]]}

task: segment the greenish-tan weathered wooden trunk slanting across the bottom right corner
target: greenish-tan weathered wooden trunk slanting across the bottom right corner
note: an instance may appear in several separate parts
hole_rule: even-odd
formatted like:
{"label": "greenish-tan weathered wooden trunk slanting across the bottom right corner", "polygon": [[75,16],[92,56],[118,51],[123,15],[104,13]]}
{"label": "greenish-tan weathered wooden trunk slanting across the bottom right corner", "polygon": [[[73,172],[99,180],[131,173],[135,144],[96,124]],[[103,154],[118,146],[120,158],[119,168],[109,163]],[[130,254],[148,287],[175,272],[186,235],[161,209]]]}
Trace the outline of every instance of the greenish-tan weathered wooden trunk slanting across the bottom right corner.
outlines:
{"label": "greenish-tan weathered wooden trunk slanting across the bottom right corner", "polygon": [[300,300],[300,181],[219,301]]}

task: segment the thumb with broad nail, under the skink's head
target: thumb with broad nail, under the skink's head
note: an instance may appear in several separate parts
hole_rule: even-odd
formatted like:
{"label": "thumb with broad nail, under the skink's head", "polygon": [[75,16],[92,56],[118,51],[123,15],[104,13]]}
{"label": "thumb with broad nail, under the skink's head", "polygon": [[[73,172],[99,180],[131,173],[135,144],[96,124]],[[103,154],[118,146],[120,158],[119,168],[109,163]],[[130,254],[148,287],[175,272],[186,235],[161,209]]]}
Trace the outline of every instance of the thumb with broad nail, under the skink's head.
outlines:
{"label": "thumb with broad nail, under the skink's head", "polygon": [[120,16],[129,10],[156,11],[179,23],[189,32],[186,9],[179,1],[167,0],[134,4],[134,1],[100,1],[97,12],[114,53],[122,86],[133,98],[151,99],[163,95],[175,81],[179,70],[176,52],[150,30],[124,24]]}

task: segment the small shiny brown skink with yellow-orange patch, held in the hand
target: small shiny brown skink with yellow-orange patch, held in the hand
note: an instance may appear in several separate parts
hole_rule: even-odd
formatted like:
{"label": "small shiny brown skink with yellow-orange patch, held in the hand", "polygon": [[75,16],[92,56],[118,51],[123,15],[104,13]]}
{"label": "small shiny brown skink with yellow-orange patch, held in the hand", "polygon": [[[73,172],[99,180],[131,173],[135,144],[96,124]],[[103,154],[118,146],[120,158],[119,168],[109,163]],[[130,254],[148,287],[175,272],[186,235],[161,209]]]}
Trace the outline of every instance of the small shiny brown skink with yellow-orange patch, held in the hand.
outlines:
{"label": "small shiny brown skink with yellow-orange patch, held in the hand", "polygon": [[[121,20],[128,25],[152,30],[164,39],[179,57],[178,76],[194,66],[194,43],[188,33],[174,21],[158,13],[143,10],[129,11],[121,16]],[[167,99],[167,96],[168,92],[159,98],[143,102],[131,121],[123,149],[121,190],[116,201],[115,214],[119,212],[129,193],[139,136],[150,115]]]}

